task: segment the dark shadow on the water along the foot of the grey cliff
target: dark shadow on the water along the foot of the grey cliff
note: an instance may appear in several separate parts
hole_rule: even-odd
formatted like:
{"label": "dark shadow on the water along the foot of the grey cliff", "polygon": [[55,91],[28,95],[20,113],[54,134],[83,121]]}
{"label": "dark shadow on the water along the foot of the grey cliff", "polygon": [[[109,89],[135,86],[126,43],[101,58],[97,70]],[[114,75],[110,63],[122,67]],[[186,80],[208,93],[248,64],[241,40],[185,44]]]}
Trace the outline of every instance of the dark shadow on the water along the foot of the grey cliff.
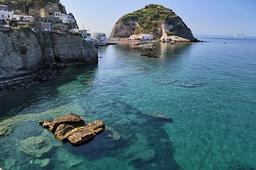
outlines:
{"label": "dark shadow on the water along the foot of the grey cliff", "polygon": [[[94,79],[97,72],[97,64],[69,66],[63,69],[63,72],[57,79],[42,81],[39,84],[29,86],[28,89],[5,91],[0,96],[0,118],[16,115],[29,106],[36,106],[44,101],[51,101],[58,95],[58,86],[75,81],[79,74],[86,72],[90,79]],[[16,110],[11,111],[12,108],[16,108]]]}

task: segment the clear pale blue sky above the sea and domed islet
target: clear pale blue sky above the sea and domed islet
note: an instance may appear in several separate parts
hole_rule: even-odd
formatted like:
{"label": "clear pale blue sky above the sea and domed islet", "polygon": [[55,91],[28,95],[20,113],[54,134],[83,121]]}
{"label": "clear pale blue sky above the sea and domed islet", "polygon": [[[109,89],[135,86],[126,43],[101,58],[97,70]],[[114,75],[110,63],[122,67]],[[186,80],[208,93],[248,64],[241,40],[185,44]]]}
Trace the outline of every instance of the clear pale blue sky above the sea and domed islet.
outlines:
{"label": "clear pale blue sky above the sea and domed islet", "polygon": [[60,0],[78,26],[110,33],[124,14],[148,4],[171,8],[195,35],[256,36],[256,0]]}

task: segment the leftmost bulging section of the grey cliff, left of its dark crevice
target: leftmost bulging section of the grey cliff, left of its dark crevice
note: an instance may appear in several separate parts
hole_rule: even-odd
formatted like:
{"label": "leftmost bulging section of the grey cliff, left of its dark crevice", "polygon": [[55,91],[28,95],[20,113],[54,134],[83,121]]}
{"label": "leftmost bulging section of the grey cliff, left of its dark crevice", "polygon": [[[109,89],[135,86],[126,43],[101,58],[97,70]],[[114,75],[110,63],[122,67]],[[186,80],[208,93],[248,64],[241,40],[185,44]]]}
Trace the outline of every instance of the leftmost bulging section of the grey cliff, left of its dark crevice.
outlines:
{"label": "leftmost bulging section of the grey cliff, left of its dark crevice", "polygon": [[0,31],[0,75],[32,71],[43,65],[41,46],[35,35],[21,30]]}

